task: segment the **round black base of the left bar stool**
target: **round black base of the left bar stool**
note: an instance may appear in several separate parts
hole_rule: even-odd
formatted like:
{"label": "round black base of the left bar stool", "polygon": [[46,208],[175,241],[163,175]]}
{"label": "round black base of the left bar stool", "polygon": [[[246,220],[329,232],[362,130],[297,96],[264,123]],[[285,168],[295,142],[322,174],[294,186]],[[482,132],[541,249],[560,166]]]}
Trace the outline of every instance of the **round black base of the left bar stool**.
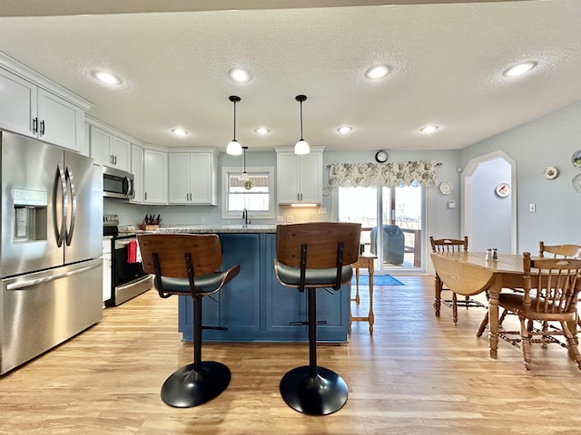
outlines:
{"label": "round black base of the left bar stool", "polygon": [[230,379],[230,370],[221,362],[204,361],[199,372],[188,364],[163,382],[162,401],[175,408],[202,405],[226,390]]}

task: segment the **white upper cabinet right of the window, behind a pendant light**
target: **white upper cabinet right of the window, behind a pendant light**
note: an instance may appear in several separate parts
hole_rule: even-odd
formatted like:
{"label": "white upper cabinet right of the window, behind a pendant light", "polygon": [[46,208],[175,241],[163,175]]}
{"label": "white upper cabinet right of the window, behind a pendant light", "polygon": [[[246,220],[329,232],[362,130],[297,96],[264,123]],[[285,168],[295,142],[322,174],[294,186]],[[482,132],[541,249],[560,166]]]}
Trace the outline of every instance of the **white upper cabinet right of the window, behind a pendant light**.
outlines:
{"label": "white upper cabinet right of the window, behind a pendant light", "polygon": [[323,147],[297,155],[292,149],[276,149],[277,198],[279,204],[322,202]]}

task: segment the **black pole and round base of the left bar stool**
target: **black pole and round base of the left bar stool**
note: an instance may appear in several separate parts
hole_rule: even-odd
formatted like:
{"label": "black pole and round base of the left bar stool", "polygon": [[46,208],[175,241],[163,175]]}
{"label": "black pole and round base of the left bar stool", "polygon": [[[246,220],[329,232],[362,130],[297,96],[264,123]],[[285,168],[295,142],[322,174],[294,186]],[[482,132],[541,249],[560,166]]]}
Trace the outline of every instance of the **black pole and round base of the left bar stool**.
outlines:
{"label": "black pole and round base of the left bar stool", "polygon": [[231,372],[222,362],[202,362],[202,296],[193,302],[193,362],[163,382],[162,401],[175,408],[191,408],[218,397],[226,390]]}

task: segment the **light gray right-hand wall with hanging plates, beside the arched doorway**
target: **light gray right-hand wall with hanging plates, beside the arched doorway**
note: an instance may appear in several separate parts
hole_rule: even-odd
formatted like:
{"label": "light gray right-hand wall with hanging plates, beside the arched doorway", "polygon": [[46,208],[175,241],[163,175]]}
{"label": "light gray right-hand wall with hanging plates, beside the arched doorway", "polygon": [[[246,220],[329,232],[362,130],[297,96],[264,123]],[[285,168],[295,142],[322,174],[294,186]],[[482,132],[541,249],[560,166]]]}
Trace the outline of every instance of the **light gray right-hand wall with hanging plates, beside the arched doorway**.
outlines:
{"label": "light gray right-hand wall with hanging plates, beside the arched doorway", "polygon": [[[571,164],[571,156],[579,149],[581,102],[575,102],[461,151],[461,166],[495,150],[517,161],[517,252],[537,253],[539,240],[550,245],[581,244],[581,194],[571,183],[581,173]],[[547,166],[559,170],[556,179],[543,177]],[[537,212],[530,213],[533,203]]]}

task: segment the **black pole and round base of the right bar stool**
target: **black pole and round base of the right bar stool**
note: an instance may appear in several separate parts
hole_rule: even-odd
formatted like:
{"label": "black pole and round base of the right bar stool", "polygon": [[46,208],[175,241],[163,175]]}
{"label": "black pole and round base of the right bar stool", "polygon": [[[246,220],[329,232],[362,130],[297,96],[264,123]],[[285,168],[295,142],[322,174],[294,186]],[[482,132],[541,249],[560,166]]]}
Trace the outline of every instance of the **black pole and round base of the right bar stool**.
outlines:
{"label": "black pole and round base of the right bar stool", "polygon": [[317,290],[308,289],[309,365],[287,372],[281,379],[282,400],[293,410],[310,415],[339,411],[347,401],[347,383],[339,374],[317,365]]}

